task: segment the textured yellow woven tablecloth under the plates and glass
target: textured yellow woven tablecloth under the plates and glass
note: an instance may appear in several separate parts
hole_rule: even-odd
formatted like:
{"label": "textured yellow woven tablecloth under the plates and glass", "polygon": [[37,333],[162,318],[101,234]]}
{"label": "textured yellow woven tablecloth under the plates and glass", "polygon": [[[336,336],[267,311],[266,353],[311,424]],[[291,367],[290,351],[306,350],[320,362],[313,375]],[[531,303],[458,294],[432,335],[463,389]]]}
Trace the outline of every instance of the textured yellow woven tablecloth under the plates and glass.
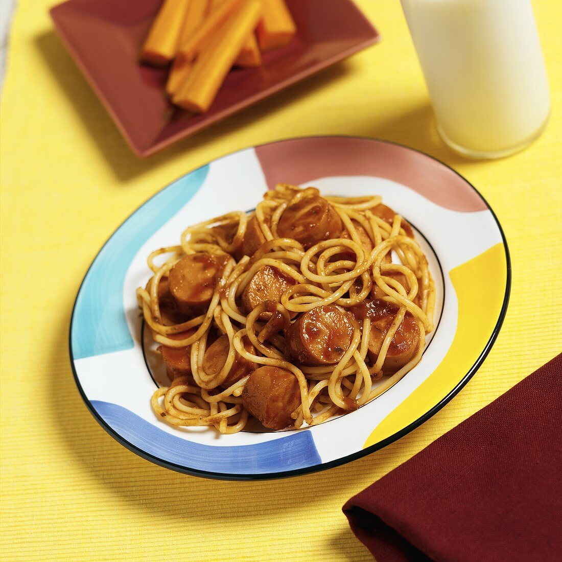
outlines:
{"label": "textured yellow woven tablecloth under the plates and glass", "polygon": [[[9,560],[363,560],[341,506],[561,351],[559,0],[534,2],[550,74],[549,128],[527,151],[469,162],[439,140],[397,0],[361,0],[378,46],[140,161],[53,32],[53,0],[18,0],[2,95],[2,552]],[[558,56],[557,56],[558,55]],[[513,260],[504,328],[448,406],[376,454],[272,482],[214,482],[120,446],[69,365],[72,303],[90,261],[139,203],[186,171],[294,135],[409,144],[491,203]],[[523,413],[524,415],[524,413]]]}

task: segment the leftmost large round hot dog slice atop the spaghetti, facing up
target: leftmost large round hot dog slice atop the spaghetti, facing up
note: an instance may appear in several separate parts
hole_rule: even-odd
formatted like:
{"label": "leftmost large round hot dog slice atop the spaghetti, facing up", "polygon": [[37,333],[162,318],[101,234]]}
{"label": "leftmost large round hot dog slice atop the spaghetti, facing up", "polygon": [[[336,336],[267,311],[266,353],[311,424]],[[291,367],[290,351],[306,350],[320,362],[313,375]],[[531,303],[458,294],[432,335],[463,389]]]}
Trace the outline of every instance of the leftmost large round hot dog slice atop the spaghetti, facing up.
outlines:
{"label": "leftmost large round hot dog slice atop the spaghetti, facing up", "polygon": [[185,256],[174,265],[170,270],[170,291],[182,312],[205,312],[227,260],[226,256],[199,252]]}

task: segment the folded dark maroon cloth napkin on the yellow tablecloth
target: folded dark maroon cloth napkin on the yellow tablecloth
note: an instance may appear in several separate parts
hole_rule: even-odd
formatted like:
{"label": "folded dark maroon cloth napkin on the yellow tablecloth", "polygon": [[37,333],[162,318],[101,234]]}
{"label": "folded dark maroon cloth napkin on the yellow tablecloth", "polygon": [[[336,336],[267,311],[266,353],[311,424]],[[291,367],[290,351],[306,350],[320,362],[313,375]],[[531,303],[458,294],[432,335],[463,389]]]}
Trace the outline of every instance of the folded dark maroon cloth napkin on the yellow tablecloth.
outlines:
{"label": "folded dark maroon cloth napkin on the yellow tablecloth", "polygon": [[377,562],[562,560],[562,355],[343,511]]}

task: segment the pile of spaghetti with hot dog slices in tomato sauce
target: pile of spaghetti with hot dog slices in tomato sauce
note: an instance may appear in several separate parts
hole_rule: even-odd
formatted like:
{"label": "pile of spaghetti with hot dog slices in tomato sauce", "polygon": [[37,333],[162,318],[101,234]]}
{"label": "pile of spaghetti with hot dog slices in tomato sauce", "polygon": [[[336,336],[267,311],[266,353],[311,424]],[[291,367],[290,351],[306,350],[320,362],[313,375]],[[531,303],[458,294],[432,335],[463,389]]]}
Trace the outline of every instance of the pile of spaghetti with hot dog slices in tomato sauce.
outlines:
{"label": "pile of spaghetti with hot dog slices in tomato sauce", "polygon": [[250,215],[190,226],[148,266],[138,302],[171,379],[152,407],[177,426],[319,424],[413,369],[433,329],[427,259],[378,196],[281,184]]}

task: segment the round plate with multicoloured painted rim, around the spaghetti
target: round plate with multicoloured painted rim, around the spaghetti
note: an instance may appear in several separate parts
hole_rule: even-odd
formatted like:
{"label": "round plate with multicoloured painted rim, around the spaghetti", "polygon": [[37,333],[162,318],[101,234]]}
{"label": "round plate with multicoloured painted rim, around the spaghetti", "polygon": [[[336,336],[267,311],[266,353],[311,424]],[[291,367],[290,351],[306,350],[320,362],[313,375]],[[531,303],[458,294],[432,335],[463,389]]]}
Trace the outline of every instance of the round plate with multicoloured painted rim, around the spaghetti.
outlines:
{"label": "round plate with multicoloured painted rim, around the spaghetti", "polygon": [[[413,224],[437,285],[437,328],[422,361],[382,396],[313,428],[219,435],[156,419],[158,380],[145,360],[135,289],[148,253],[189,224],[255,207],[278,182],[323,193],[380,194]],[[382,140],[311,137],[247,148],[183,176],[144,203],[99,252],[72,314],[76,383],[98,422],[130,450],[179,472],[223,479],[286,477],[357,459],[445,405],[481,365],[504,319],[507,244],[486,201],[437,160]],[[147,354],[149,355],[149,354]]]}

